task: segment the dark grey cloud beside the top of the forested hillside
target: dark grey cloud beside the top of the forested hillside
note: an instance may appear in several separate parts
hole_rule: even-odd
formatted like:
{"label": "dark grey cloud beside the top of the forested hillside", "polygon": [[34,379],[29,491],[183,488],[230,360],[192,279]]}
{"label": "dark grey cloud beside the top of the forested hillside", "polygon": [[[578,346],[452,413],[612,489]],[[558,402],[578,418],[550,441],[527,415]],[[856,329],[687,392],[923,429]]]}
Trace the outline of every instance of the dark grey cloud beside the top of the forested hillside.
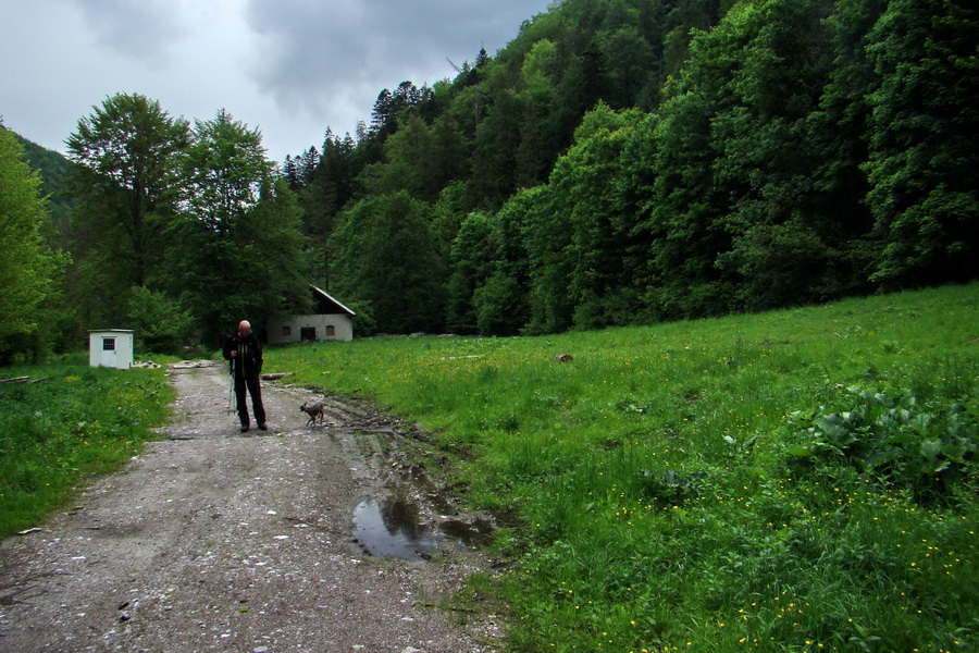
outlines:
{"label": "dark grey cloud beside the top of the forested hillside", "polygon": [[[330,3],[251,0],[248,22],[263,37],[260,87],[282,106],[329,116],[361,107],[369,120],[383,88],[430,86],[453,77],[481,47],[492,54],[547,0],[358,0]],[[334,124],[335,131],[352,124]]]}

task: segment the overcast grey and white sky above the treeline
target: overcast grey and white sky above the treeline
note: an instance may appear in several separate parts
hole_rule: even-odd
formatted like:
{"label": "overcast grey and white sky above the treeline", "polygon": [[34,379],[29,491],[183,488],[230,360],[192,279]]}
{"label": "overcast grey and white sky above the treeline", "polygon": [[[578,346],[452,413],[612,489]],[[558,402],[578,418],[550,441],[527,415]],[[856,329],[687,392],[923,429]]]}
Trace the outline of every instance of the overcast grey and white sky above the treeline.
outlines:
{"label": "overcast grey and white sky above the treeline", "polygon": [[116,93],[226,109],[281,162],[370,122],[377,94],[494,56],[550,0],[0,0],[0,116],[64,151]]}

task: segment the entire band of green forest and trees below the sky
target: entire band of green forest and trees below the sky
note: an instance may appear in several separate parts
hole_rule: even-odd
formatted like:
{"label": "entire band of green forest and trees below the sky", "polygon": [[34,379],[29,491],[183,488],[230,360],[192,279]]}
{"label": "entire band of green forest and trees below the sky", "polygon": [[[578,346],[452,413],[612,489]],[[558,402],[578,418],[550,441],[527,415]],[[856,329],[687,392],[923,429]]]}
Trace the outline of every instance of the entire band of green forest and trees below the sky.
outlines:
{"label": "entire band of green forest and trees below the sky", "polygon": [[966,0],[556,1],[283,162],[119,93],[67,161],[0,131],[0,360],[212,347],[310,283],[361,335],[513,335],[967,282],[977,52]]}

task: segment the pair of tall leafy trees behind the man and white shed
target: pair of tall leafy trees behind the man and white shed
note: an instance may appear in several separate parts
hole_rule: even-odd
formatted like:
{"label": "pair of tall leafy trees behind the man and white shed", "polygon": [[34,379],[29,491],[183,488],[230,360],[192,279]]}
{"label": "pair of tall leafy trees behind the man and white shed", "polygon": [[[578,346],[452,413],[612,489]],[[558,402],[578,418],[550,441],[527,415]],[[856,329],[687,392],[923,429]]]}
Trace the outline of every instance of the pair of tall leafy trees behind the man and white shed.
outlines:
{"label": "pair of tall leafy trees behind the man and white shed", "polygon": [[305,307],[295,194],[261,141],[223,109],[191,127],[139,95],[82,119],[67,139],[80,317],[123,320],[172,347]]}

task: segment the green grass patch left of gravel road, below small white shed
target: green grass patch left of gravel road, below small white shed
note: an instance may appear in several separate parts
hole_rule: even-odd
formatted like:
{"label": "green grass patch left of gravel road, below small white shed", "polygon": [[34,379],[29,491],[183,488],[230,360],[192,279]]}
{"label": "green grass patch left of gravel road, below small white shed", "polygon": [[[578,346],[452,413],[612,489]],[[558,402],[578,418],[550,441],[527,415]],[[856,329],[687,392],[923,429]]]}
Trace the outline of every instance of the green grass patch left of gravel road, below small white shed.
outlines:
{"label": "green grass patch left of gravel road, below small white shed", "polygon": [[92,475],[140,451],[165,419],[163,370],[90,368],[87,361],[2,368],[0,537],[36,526]]}

